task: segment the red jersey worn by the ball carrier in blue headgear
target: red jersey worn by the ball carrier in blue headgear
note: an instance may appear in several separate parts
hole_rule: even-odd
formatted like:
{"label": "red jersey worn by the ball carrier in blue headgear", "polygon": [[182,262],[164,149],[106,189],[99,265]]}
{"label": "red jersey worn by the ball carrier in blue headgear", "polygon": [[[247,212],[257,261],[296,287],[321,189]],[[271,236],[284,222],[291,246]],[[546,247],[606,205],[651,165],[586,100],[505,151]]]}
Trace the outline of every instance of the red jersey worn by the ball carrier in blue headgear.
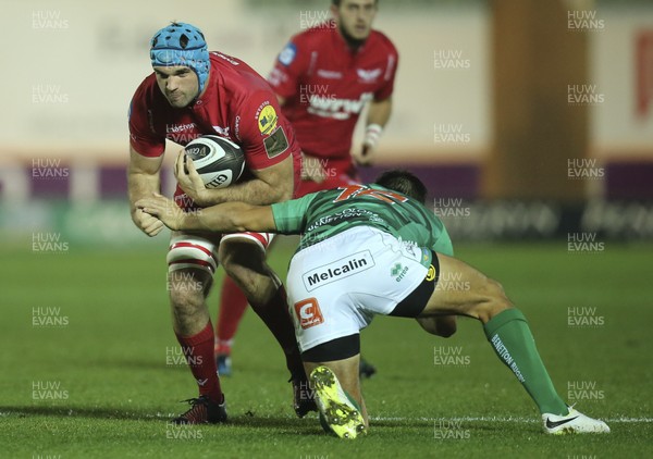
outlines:
{"label": "red jersey worn by the ball carrier in blue headgear", "polygon": [[185,146],[200,135],[219,135],[243,148],[249,170],[269,168],[293,154],[296,186],[300,150],[272,88],[245,62],[215,51],[209,55],[206,90],[188,107],[171,107],[153,73],[143,80],[130,106],[132,147],[143,156],[159,157],[165,139]]}

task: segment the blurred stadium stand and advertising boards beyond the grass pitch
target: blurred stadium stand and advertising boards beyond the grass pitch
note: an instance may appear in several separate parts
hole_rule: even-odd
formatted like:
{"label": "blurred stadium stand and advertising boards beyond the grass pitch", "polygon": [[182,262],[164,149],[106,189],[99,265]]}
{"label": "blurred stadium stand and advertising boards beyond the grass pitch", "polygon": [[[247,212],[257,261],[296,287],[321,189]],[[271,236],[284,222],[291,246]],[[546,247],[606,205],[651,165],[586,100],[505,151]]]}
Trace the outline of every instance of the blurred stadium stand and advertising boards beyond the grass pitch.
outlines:
{"label": "blurred stadium stand and advertising boards beyond the grass pitch", "polygon": [[[74,0],[0,5],[10,63],[0,231],[75,244],[148,244],[125,208],[126,112],[171,20],[267,75],[328,0]],[[399,165],[429,184],[454,236],[651,238],[653,4],[381,0],[401,53],[395,109],[371,179]],[[174,148],[171,146],[171,148]],[[169,156],[169,160],[171,156]],[[168,173],[164,187],[171,193]]]}

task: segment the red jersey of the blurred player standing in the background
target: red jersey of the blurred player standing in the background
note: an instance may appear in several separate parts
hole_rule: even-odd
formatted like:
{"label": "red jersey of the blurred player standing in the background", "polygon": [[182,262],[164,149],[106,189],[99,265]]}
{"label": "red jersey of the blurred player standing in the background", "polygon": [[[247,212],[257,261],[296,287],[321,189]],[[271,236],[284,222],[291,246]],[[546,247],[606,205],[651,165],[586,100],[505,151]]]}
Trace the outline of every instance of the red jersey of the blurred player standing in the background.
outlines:
{"label": "red jersey of the blurred player standing in the background", "polygon": [[316,157],[348,159],[356,122],[366,102],[392,95],[398,53],[372,30],[353,51],[332,23],[291,38],[268,77],[286,102],[301,149]]}

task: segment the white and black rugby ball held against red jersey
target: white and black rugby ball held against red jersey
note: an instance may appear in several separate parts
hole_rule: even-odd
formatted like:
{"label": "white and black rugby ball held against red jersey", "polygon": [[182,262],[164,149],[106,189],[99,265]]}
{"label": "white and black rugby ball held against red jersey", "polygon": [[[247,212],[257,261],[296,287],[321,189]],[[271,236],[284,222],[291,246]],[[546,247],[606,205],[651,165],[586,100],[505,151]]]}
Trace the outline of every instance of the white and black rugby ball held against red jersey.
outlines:
{"label": "white and black rugby ball held against red jersey", "polygon": [[233,141],[220,136],[201,136],[184,148],[207,188],[226,188],[245,170],[245,153]]}

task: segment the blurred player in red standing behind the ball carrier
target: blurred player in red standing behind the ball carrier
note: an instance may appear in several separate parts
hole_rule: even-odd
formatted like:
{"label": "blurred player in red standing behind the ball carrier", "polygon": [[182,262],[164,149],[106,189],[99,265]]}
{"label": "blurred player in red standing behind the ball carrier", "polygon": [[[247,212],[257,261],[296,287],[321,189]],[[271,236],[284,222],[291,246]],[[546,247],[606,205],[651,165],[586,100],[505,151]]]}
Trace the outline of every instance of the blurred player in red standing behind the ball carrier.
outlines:
{"label": "blurred player in red standing behind the ball carrier", "polygon": [[[378,0],[332,0],[332,21],[299,33],[283,48],[268,80],[295,128],[304,162],[297,196],[358,182],[357,164],[373,159],[392,112],[398,53],[372,29]],[[364,145],[352,138],[369,104]],[[354,157],[353,157],[354,156]],[[231,346],[247,300],[224,280],[215,334],[219,368],[231,373]],[[374,368],[361,361],[361,375]]]}

